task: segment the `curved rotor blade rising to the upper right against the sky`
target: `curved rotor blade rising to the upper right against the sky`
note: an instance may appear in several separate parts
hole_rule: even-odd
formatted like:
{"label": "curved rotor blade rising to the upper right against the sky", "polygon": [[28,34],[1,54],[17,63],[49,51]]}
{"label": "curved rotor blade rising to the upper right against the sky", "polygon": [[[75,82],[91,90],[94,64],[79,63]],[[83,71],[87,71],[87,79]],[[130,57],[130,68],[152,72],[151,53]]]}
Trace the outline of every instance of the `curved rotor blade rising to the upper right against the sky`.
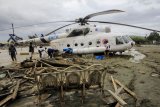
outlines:
{"label": "curved rotor blade rising to the upper right against the sky", "polygon": [[90,19],[90,18],[92,18],[94,16],[98,16],[98,15],[120,13],[120,12],[124,12],[124,11],[113,9],[113,10],[106,10],[106,11],[102,11],[102,12],[97,12],[97,13],[93,13],[93,14],[87,15],[86,17],[84,17],[84,20],[88,20],[88,19]]}

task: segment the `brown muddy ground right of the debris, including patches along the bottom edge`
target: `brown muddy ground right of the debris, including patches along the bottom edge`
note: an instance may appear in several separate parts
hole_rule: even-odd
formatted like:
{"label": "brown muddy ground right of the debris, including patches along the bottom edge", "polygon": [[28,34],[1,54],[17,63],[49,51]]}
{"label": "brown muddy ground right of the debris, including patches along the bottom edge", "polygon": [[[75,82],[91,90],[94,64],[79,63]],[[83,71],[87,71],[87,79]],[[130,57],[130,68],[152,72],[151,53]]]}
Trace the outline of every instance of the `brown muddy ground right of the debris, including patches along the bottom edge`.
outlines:
{"label": "brown muddy ground right of the debris, including patches along the bottom edge", "polygon": [[[146,57],[138,63],[131,62],[132,56],[130,55],[116,55],[107,57],[104,60],[95,60],[94,58],[87,57],[85,60],[88,63],[103,64],[110,68],[105,78],[105,89],[113,90],[110,75],[118,79],[121,83],[126,85],[129,89],[136,93],[138,103],[136,104],[133,99],[126,100],[127,107],[159,107],[160,101],[160,46],[140,46],[134,47],[139,52],[143,53]],[[65,107],[109,107],[101,101],[97,91],[90,93],[86,96],[84,104],[81,103],[78,94],[66,93]],[[54,95],[52,96],[54,97]],[[51,97],[51,98],[52,98]],[[50,99],[51,99],[50,98]],[[132,97],[131,97],[132,98]],[[30,107],[36,101],[35,96],[17,99],[9,107]],[[52,101],[52,100],[50,100]],[[30,106],[28,105],[29,103]],[[47,102],[46,106],[60,106],[56,101]],[[36,106],[36,105],[34,105]],[[45,105],[44,105],[45,106]]]}

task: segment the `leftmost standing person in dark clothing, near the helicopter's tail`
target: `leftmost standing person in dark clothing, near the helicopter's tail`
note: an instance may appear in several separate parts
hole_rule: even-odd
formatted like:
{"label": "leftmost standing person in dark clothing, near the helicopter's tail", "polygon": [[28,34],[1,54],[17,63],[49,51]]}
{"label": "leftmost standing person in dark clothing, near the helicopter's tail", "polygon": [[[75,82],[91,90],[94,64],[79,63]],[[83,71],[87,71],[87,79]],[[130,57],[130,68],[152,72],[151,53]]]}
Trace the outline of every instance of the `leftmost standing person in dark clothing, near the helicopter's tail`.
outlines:
{"label": "leftmost standing person in dark clothing, near the helicopter's tail", "polygon": [[11,56],[12,61],[17,61],[17,50],[13,44],[9,46],[9,55]]}

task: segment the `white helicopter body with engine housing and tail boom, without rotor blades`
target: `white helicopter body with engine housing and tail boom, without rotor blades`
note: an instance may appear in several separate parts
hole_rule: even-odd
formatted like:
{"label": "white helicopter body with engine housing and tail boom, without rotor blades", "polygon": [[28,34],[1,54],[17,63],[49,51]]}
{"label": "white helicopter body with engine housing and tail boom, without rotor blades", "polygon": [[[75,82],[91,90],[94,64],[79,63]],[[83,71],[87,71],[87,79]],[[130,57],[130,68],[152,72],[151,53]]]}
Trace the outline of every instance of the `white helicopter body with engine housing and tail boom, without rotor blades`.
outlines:
{"label": "white helicopter body with engine housing and tail boom, without rotor blades", "polygon": [[49,36],[22,40],[19,43],[50,43],[52,48],[60,52],[70,48],[73,54],[123,52],[133,46],[134,42],[130,37],[111,35],[109,32],[110,28],[106,26],[78,26],[66,29],[65,33],[53,33]]}

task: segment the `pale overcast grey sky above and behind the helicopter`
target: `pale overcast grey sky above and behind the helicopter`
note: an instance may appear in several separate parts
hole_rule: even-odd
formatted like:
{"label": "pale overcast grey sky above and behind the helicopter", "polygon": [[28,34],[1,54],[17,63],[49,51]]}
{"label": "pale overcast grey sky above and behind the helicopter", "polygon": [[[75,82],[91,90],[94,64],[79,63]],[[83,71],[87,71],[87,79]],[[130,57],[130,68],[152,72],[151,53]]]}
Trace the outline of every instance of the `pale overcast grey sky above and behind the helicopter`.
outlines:
{"label": "pale overcast grey sky above and behind the helicopter", "polygon": [[[160,0],[0,0],[0,30],[57,20],[75,20],[88,14],[120,9],[125,12],[97,16],[90,20],[113,21],[160,30]],[[26,37],[46,34],[67,23],[35,25],[15,29]],[[146,35],[149,31],[106,25],[113,33]],[[0,31],[0,41],[6,41],[12,30]]]}

